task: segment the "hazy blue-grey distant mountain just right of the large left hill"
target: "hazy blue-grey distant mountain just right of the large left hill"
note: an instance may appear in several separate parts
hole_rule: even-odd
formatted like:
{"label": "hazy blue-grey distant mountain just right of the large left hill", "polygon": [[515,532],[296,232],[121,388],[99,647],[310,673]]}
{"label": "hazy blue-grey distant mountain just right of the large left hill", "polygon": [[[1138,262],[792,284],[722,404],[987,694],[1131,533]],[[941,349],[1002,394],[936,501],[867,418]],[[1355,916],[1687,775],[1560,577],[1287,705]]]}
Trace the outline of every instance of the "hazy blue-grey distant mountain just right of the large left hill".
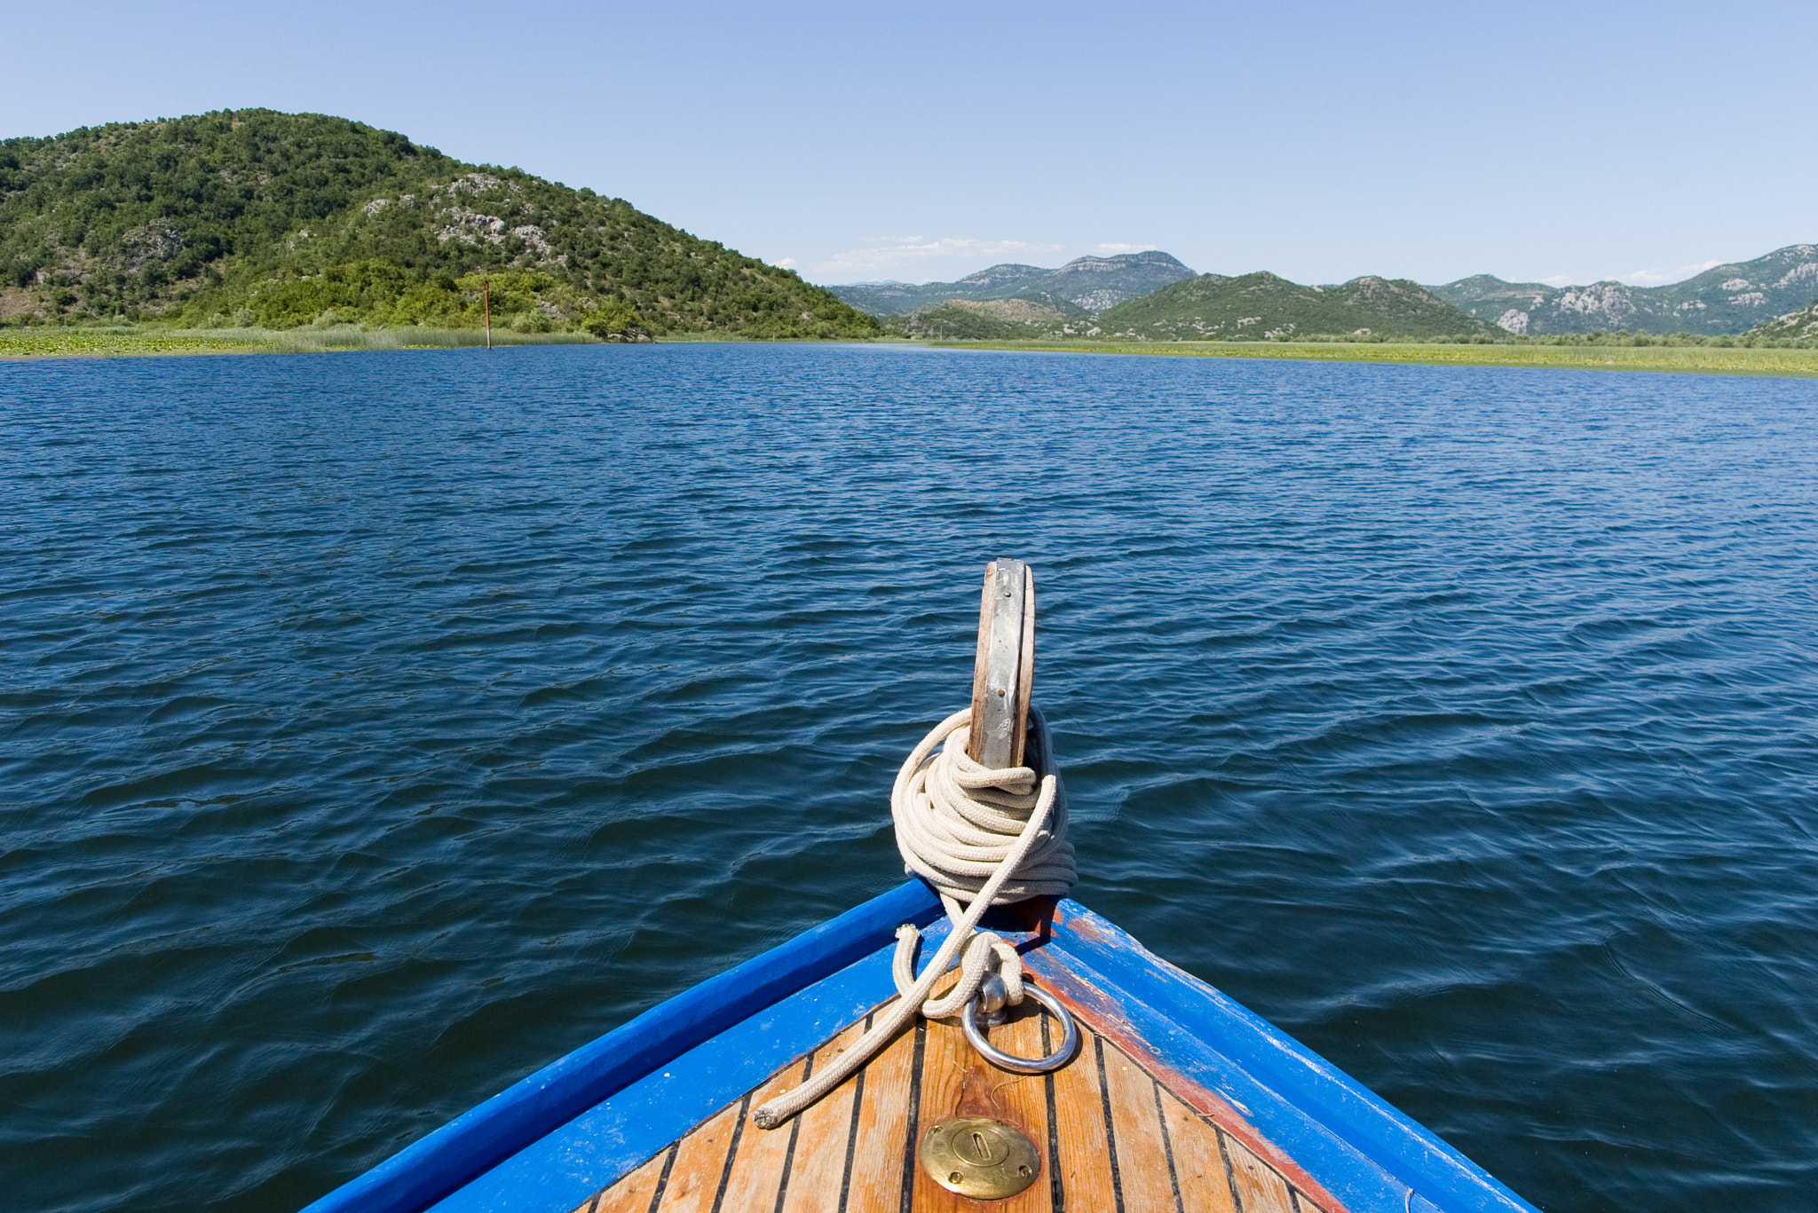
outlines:
{"label": "hazy blue-grey distant mountain just right of the large left hill", "polygon": [[827,287],[873,316],[902,316],[949,300],[1025,298],[1062,315],[1098,313],[1124,300],[1149,295],[1193,271],[1167,253],[1120,253],[1082,256],[1060,269],[1005,262],[980,269],[958,282],[854,282]]}

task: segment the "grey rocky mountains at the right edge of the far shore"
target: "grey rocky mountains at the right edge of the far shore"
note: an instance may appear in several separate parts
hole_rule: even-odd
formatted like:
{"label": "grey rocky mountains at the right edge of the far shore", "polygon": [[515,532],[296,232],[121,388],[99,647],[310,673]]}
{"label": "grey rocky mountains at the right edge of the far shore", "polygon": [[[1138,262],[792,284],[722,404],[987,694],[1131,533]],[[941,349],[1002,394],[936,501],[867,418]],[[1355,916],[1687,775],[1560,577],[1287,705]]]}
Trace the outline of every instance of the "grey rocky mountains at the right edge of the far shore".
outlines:
{"label": "grey rocky mountains at the right edge of the far shore", "polygon": [[1656,287],[1553,287],[1476,275],[1431,289],[1509,333],[1743,333],[1818,298],[1818,246],[1789,244],[1753,262]]}

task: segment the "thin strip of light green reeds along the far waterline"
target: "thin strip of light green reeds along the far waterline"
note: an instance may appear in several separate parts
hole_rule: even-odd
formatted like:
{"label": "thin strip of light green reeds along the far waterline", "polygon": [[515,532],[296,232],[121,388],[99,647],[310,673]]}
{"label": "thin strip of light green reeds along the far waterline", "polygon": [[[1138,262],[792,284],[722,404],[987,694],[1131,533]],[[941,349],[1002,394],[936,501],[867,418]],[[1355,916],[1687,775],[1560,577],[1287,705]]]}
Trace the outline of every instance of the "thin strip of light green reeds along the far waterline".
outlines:
{"label": "thin strip of light green reeds along the far waterline", "polygon": [[[664,344],[751,342],[725,331],[671,333]],[[811,338],[822,344],[825,338]],[[874,342],[876,338],[873,338]],[[1691,375],[1778,375],[1818,378],[1818,346],[1747,338],[1629,338],[1627,335],[1516,338],[1509,342],[1102,342],[1102,340],[920,340],[882,338],[929,349],[1027,353],[1162,355],[1184,358],[1273,358],[1291,362],[1383,362],[1425,366],[1562,367],[1594,371],[1678,371]],[[611,344],[591,333],[493,329],[493,346]],[[376,349],[465,349],[485,346],[484,329],[427,326],[329,326],[300,329],[167,326],[0,327],[0,360],[118,358],[211,353],[336,353]]]}

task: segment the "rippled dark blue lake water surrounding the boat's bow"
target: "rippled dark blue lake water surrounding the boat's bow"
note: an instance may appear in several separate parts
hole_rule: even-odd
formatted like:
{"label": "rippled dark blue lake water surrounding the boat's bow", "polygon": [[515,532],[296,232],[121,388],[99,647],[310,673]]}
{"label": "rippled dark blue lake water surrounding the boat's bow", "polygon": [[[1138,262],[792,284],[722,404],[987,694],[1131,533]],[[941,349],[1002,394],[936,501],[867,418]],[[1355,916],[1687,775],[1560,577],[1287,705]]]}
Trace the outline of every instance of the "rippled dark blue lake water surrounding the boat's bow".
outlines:
{"label": "rippled dark blue lake water surrounding the boat's bow", "polygon": [[1040,578],[1076,895],[1547,1209],[1811,1209],[1818,382],[0,366],[0,1191],[289,1211],[900,880]]}

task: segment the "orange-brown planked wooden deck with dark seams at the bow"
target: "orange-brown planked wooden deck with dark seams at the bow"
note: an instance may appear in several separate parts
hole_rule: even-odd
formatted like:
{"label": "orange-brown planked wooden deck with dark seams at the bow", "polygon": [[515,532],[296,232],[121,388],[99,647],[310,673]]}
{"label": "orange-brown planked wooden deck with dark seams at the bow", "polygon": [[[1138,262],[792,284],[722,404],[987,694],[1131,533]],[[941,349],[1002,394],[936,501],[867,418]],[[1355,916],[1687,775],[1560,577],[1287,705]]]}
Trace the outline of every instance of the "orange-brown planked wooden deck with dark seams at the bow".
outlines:
{"label": "orange-brown planked wooden deck with dark seams at the bow", "polygon": [[[1085,1018],[1080,1051],[1053,1075],[996,1069],[956,1022],[922,1022],[793,1122],[771,1131],[751,1122],[753,1108],[829,1064],[867,1022],[771,1075],[574,1213],[1342,1213],[1222,1100],[1164,1080]],[[1051,1026],[1029,1002],[991,1038],[1038,1057]],[[931,1180],[916,1144],[949,1117],[1020,1128],[1042,1157],[1034,1182],[1005,1200],[971,1200]]]}

